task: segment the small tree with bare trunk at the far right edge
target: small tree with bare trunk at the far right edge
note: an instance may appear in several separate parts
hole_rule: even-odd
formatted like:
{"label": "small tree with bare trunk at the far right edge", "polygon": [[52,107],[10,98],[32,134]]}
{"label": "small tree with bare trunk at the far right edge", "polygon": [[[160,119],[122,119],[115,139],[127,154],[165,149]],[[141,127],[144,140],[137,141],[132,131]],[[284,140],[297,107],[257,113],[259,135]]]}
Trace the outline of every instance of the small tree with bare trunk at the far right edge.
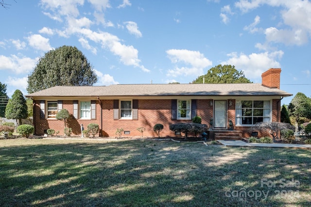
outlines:
{"label": "small tree with bare trunk at the far right edge", "polygon": [[298,92],[288,105],[290,116],[294,117],[295,132],[299,131],[299,119],[302,117],[311,118],[311,100],[306,95]]}

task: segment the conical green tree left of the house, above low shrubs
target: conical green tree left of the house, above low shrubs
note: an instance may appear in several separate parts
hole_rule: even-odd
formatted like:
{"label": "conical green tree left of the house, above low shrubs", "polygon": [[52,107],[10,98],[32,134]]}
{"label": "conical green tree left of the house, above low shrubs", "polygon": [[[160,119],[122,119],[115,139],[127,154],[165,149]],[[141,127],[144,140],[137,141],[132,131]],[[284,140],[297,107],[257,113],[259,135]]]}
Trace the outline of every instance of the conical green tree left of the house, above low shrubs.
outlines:
{"label": "conical green tree left of the house, above low shrubs", "polygon": [[5,118],[16,119],[17,124],[21,124],[21,119],[28,117],[26,99],[21,91],[16,90],[9,99],[8,104],[5,108]]}

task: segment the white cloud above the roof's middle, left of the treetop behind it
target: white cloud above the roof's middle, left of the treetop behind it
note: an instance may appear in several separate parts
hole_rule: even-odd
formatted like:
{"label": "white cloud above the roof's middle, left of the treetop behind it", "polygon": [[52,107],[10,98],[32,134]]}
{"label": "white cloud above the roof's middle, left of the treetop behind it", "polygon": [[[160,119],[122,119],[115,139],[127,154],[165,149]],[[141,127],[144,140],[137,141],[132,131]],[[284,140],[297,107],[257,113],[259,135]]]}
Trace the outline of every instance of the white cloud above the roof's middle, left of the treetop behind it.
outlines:
{"label": "white cloud above the roof's middle, left of the treetop behind it", "polygon": [[178,67],[168,71],[167,76],[177,77],[183,76],[199,76],[203,74],[203,69],[212,65],[212,62],[204,57],[199,51],[191,51],[187,49],[170,49],[167,50],[169,59],[174,64],[186,64],[190,67]]}

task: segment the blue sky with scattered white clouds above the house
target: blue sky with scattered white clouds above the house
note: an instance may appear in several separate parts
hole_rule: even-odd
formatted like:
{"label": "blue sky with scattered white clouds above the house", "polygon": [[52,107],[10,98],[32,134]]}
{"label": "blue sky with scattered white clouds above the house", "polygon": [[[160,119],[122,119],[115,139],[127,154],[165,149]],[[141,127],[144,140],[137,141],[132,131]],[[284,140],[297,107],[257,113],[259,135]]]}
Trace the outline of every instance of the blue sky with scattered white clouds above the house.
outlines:
{"label": "blue sky with scattered white clouds above the house", "polygon": [[[311,96],[309,0],[4,0],[0,82],[27,94],[40,57],[80,49],[95,85],[189,83],[218,64],[261,82],[281,68],[281,90]],[[294,96],[284,98],[288,104]]]}

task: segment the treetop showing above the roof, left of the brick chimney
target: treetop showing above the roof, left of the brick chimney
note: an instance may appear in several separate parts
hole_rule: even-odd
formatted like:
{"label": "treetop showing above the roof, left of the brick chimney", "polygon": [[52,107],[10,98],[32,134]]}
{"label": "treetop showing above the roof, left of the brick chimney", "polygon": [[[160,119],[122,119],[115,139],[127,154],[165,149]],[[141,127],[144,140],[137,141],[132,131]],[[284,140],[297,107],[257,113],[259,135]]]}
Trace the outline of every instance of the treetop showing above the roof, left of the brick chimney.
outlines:
{"label": "treetop showing above the roof, left of the brick chimney", "polygon": [[245,78],[244,72],[239,72],[234,65],[225,64],[217,65],[210,68],[207,74],[199,76],[192,83],[250,83],[251,81]]}

